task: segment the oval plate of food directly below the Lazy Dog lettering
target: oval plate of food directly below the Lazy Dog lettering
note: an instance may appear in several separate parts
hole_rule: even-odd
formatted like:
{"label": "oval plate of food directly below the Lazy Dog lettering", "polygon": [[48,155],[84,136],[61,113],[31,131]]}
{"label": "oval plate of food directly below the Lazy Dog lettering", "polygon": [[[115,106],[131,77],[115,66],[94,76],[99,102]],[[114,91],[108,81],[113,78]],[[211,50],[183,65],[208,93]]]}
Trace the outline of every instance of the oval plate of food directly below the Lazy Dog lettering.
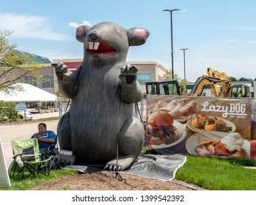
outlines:
{"label": "oval plate of food directly below the Lazy Dog lettering", "polygon": [[218,131],[223,133],[235,132],[235,124],[227,119],[216,116],[208,116],[206,113],[199,113],[194,118],[189,119],[187,127],[194,133],[204,131]]}

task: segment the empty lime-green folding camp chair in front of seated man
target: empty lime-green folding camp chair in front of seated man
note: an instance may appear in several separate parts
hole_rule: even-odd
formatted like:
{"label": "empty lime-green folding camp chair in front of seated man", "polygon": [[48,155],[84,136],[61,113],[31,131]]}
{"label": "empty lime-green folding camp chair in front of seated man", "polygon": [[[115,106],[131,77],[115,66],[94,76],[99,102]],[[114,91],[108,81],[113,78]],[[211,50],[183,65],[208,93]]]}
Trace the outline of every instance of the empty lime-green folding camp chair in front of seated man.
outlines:
{"label": "empty lime-green folding camp chair in front of seated man", "polygon": [[9,175],[21,174],[35,175],[37,173],[48,176],[50,169],[48,163],[51,156],[42,160],[39,152],[38,141],[36,138],[29,138],[23,141],[12,141],[13,160],[9,167]]}

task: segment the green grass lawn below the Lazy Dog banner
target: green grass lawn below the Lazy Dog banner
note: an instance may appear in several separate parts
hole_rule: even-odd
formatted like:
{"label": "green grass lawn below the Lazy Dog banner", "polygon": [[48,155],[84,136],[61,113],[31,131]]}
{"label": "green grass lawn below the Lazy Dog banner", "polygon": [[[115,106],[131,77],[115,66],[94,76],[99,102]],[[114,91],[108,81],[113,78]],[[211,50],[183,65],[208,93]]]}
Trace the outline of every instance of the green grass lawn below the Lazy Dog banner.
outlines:
{"label": "green grass lawn below the Lazy Dog banner", "polygon": [[175,179],[208,190],[256,190],[256,160],[187,156]]}

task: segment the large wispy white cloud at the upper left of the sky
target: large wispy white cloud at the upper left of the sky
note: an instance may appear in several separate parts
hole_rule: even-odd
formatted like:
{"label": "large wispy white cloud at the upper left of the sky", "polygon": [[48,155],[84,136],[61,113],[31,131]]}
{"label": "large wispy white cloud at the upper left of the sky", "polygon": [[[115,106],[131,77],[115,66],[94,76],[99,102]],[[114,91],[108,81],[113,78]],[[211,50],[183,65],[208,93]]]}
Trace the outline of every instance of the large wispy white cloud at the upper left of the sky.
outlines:
{"label": "large wispy white cloud at the upper left of the sky", "polygon": [[66,34],[54,31],[49,26],[50,20],[43,16],[0,14],[0,30],[14,31],[12,37],[34,38],[42,40],[68,40]]}

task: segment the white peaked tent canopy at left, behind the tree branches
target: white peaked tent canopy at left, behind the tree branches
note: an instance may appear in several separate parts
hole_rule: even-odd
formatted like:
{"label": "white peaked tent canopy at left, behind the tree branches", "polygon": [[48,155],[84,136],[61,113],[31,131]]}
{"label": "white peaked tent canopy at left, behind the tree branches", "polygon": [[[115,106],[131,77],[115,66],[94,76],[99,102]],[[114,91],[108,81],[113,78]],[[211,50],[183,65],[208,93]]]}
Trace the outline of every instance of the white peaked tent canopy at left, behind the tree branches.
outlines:
{"label": "white peaked tent canopy at left, behind the tree branches", "polygon": [[57,100],[55,94],[46,92],[43,89],[39,89],[27,83],[15,83],[12,86],[16,86],[14,92],[9,94],[0,92],[0,100],[5,102],[54,102]]}

